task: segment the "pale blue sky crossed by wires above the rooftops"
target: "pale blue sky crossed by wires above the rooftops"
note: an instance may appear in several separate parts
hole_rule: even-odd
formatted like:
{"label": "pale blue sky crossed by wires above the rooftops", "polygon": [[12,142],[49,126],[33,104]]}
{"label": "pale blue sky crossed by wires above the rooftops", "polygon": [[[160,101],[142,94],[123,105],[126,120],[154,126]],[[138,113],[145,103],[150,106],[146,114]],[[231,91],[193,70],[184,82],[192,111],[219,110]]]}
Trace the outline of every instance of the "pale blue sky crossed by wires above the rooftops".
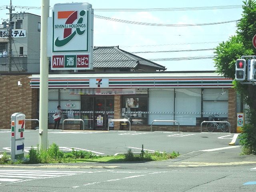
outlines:
{"label": "pale blue sky crossed by wires above the rooftops", "polygon": [[[225,42],[230,36],[235,35],[236,22],[200,26],[150,26],[105,20],[96,16],[150,24],[209,24],[239,20],[242,17],[243,5],[242,0],[91,0],[87,2],[92,4],[95,15],[94,46],[119,46],[122,50],[165,66],[167,71],[215,70],[212,58],[192,60],[187,58],[214,56],[214,50],[208,49],[216,48],[220,42]],[[50,0],[50,8],[56,3],[70,3],[70,1]],[[2,19],[9,18],[6,5],[10,5],[10,0],[0,2],[1,22]],[[235,5],[236,8],[216,8]],[[41,6],[41,0],[12,0],[12,6],[18,6],[14,12],[41,15],[41,10],[35,8]],[[202,7],[215,8],[202,9]],[[158,8],[158,11],[145,10],[148,8]],[[174,10],[159,11],[159,8],[174,8]],[[180,10],[181,8],[183,10]],[[100,9],[108,9],[108,11]],[[133,9],[133,11],[120,9]],[[134,9],[144,10],[134,11]],[[50,16],[51,14],[52,9]]]}

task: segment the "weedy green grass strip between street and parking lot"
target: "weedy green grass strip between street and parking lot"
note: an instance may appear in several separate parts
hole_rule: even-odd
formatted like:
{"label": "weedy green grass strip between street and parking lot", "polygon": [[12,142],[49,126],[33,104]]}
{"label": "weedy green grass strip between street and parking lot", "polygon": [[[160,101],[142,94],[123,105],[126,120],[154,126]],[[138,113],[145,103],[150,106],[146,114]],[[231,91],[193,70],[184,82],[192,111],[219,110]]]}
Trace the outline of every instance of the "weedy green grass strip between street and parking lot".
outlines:
{"label": "weedy green grass strip between street and parking lot", "polygon": [[125,154],[117,156],[98,156],[92,152],[76,151],[72,148],[71,152],[64,153],[60,151],[58,145],[53,143],[47,150],[39,150],[39,148],[31,148],[23,160],[11,160],[11,156],[4,152],[0,155],[0,164],[47,164],[47,163],[79,163],[79,162],[124,162],[124,161],[161,161],[176,158],[179,153],[148,153],[142,150],[140,154],[134,154],[131,149]]}

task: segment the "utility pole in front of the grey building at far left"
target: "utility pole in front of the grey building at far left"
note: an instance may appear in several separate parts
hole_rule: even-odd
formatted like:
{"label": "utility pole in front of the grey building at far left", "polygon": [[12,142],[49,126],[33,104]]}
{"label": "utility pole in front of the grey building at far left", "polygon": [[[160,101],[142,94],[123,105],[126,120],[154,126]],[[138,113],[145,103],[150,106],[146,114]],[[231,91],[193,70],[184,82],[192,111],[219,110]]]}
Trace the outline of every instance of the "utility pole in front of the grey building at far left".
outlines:
{"label": "utility pole in front of the grey building at far left", "polygon": [[8,30],[8,40],[9,40],[9,49],[8,49],[8,67],[9,67],[9,73],[12,72],[12,28],[14,25],[14,22],[12,21],[12,11],[15,9],[12,9],[12,0],[10,0],[10,7],[8,8],[6,6],[6,9],[9,10],[9,30]]}

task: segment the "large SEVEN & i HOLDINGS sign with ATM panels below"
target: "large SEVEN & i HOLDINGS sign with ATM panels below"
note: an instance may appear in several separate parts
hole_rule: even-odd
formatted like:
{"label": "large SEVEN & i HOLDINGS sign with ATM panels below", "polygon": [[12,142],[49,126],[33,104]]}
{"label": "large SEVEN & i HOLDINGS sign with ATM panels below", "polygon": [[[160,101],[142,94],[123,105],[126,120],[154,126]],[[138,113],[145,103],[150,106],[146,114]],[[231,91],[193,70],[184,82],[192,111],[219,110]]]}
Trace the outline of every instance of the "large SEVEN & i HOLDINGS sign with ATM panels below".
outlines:
{"label": "large SEVEN & i HOLDINGS sign with ATM panels below", "polygon": [[52,70],[88,70],[93,63],[93,9],[88,3],[55,4]]}

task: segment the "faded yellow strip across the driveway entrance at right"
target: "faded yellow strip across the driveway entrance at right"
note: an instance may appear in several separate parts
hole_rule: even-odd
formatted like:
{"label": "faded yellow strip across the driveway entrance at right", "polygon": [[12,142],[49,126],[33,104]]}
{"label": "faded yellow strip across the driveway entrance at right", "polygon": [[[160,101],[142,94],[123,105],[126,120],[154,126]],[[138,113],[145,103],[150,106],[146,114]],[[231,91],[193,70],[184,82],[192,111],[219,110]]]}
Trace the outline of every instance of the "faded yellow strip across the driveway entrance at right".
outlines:
{"label": "faded yellow strip across the driveway entrance at right", "polygon": [[168,165],[169,167],[199,167],[199,166],[227,166],[227,165],[244,165],[256,164],[254,161],[228,162],[228,163],[206,163],[206,162],[174,162],[179,165]]}

